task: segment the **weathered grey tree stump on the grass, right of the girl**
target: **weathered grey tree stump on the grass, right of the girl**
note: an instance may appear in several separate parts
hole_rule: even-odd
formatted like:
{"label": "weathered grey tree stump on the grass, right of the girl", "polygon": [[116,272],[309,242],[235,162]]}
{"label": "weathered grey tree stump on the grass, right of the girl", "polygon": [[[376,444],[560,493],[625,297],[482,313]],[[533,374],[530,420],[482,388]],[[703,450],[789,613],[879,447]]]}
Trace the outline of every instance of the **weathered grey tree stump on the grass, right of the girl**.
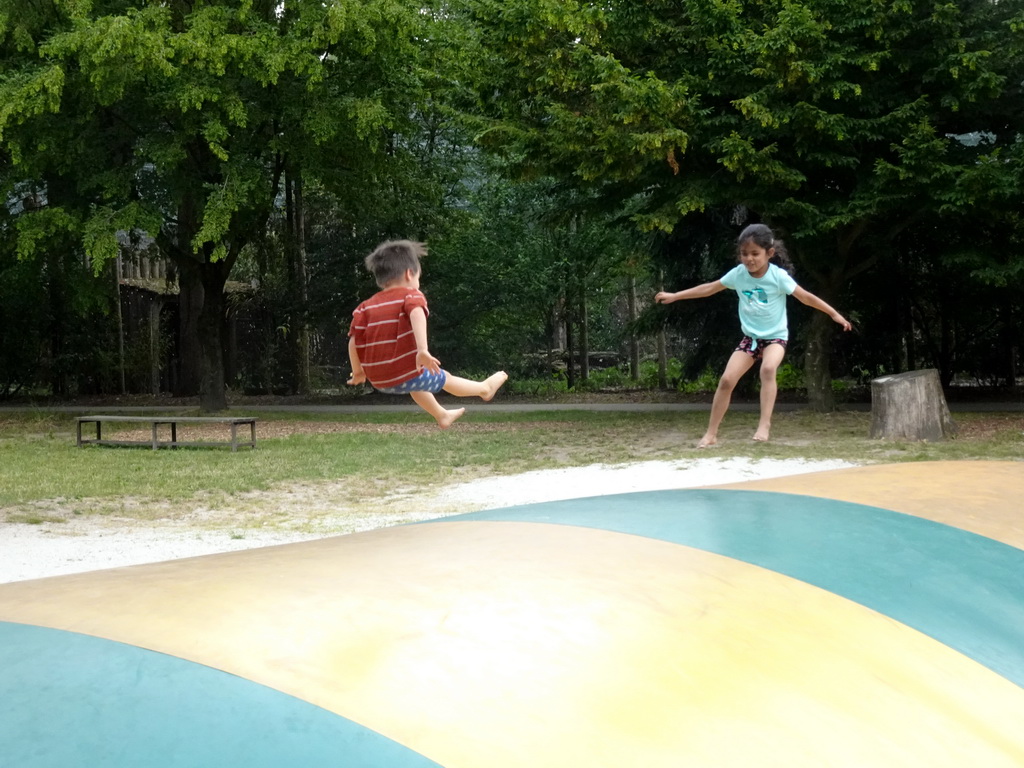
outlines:
{"label": "weathered grey tree stump on the grass, right of the girl", "polygon": [[871,437],[937,442],[954,434],[934,368],[871,381]]}

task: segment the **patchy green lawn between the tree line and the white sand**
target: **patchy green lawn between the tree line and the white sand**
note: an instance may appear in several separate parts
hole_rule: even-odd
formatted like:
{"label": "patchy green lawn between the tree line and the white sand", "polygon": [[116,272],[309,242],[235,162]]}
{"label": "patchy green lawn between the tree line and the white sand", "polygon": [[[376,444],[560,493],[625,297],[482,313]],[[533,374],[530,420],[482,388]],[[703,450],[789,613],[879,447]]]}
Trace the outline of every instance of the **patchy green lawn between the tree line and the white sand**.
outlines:
{"label": "patchy green lawn between the tree line and the white sand", "polygon": [[[432,487],[466,477],[514,474],[558,466],[646,460],[749,457],[840,459],[858,463],[936,460],[1020,460],[1024,416],[959,414],[962,437],[939,443],[867,437],[867,413],[777,414],[772,440],[755,443],[757,414],[730,412],[720,444],[694,445],[703,412],[486,413],[472,410],[442,432],[422,414],[360,416],[258,413],[258,447],[154,452],[76,447],[74,418],[52,413],[0,415],[0,512],[10,521],[48,519],[32,505],[58,503],[72,513],[123,511],[146,502],[195,501],[344,480],[372,499],[390,486]],[[348,429],[328,433],[301,430]],[[294,434],[290,431],[297,430]],[[104,436],[115,430],[104,427]],[[262,434],[282,433],[264,437]],[[106,504],[98,504],[105,501]]]}

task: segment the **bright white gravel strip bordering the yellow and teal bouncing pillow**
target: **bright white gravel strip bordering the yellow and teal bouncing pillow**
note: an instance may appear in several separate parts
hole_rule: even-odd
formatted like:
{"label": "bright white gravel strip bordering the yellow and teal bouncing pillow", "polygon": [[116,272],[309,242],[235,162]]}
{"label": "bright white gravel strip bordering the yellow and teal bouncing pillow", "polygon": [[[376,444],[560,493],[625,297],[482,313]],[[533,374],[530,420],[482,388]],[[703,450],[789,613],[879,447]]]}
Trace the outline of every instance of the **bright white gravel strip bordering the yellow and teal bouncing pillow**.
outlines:
{"label": "bright white gravel strip bordering the yellow and teal bouncing pillow", "polygon": [[[324,534],[309,526],[288,529],[210,528],[179,522],[137,522],[84,516],[61,523],[0,523],[0,583],[79,573],[87,570],[160,562],[254,547],[319,539],[325,535],[369,530],[402,522],[481,509],[510,507],[638,490],[718,485],[855,466],[841,461],[696,459],[649,461],[569,469],[549,469],[508,477],[485,477],[432,494],[396,494],[398,505],[385,512],[345,515],[343,527]],[[415,512],[394,512],[395,507]]]}

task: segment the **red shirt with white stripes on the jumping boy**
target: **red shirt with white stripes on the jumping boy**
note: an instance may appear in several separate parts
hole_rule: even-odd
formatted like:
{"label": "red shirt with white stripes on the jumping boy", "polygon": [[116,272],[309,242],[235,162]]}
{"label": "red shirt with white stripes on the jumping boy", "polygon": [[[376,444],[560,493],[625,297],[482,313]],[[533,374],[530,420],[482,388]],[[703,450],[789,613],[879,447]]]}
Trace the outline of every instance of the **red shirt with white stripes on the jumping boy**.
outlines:
{"label": "red shirt with white stripes on the jumping boy", "polygon": [[427,309],[427,297],[415,288],[389,288],[364,301],[352,312],[348,335],[367,379],[375,387],[394,387],[420,375],[410,312]]}

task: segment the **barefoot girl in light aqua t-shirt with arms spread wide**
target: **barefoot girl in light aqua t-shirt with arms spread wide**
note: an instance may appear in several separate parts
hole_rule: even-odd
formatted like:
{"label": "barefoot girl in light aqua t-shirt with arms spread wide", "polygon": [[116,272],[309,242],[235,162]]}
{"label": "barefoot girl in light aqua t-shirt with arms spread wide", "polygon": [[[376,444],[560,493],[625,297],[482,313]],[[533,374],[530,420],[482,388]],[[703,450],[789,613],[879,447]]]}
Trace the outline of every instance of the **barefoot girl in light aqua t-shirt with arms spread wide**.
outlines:
{"label": "barefoot girl in light aqua t-shirt with arms spread wide", "polygon": [[[790,259],[782,241],[775,240],[772,230],[764,224],[751,224],[736,239],[739,263],[714,283],[654,296],[658,304],[671,304],[682,299],[702,299],[706,296],[730,289],[739,299],[739,327],[743,338],[739,341],[725,373],[718,382],[711,407],[708,431],[697,447],[703,449],[718,442],[718,427],[729,410],[732,390],[757,360],[761,360],[761,419],[754,439],[765,441],[771,431],[771,416],[775,409],[778,385],[775,375],[785,355],[790,338],[785,312],[785,297],[794,296],[807,306],[814,307],[843,327],[853,328],[850,322],[831,306],[797,285],[790,275]],[[775,262],[775,263],[772,263]]]}

